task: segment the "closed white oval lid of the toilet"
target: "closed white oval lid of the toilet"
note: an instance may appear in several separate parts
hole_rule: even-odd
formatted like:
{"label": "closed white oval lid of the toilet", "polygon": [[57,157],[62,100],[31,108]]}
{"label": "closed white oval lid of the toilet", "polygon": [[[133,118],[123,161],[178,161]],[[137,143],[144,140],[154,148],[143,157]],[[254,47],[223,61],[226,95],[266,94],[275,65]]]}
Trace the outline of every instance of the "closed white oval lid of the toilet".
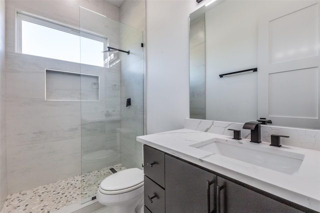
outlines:
{"label": "closed white oval lid of the toilet", "polygon": [[143,171],[138,168],[122,170],[106,177],[100,183],[103,191],[118,191],[143,183]]}

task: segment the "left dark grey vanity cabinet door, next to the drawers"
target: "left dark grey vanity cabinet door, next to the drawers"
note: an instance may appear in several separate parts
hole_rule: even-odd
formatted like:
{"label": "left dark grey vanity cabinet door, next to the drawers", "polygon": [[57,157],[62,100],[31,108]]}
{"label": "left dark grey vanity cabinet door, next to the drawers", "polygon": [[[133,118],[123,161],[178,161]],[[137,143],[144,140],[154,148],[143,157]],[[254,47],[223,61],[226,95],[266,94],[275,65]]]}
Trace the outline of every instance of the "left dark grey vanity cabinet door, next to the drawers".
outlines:
{"label": "left dark grey vanity cabinet door, next to the drawers", "polygon": [[165,212],[211,213],[216,175],[165,155]]}

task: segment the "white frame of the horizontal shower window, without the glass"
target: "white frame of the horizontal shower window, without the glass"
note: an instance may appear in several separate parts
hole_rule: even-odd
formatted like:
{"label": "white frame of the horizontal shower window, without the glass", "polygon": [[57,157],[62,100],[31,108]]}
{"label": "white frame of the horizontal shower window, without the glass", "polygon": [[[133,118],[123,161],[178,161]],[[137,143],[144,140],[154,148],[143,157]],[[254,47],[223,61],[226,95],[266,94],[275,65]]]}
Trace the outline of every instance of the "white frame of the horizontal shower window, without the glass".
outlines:
{"label": "white frame of the horizontal shower window, without the glass", "polygon": [[[92,40],[100,41],[103,43],[103,49],[107,47],[107,37],[85,30],[78,27],[71,26],[69,24],[60,23],[58,21],[44,18],[38,15],[34,15],[28,12],[16,10],[16,52],[22,53],[22,20],[39,24],[42,26],[50,27],[52,29],[64,31],[80,37],[89,38]],[[106,58],[106,53],[104,53],[103,58]]]}

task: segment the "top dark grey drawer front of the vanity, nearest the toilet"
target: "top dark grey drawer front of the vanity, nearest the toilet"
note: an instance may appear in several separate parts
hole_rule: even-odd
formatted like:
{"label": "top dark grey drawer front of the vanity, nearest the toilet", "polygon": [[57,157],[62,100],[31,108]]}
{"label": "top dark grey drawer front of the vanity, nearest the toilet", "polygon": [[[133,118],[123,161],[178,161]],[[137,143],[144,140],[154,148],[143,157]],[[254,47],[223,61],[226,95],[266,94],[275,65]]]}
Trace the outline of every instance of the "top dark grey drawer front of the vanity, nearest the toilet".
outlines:
{"label": "top dark grey drawer front of the vanity, nearest the toilet", "polygon": [[143,146],[144,175],[164,188],[164,152]]}

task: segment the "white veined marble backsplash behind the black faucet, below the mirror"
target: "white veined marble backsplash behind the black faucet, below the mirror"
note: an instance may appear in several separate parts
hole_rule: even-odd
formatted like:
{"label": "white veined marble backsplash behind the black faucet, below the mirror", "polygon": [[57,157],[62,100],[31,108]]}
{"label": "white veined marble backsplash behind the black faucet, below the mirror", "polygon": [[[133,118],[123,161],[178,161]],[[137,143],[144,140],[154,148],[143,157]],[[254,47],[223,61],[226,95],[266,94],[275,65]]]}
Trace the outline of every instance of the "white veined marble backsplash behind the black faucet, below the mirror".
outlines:
{"label": "white veined marble backsplash behind the black faucet, below the mirror", "polygon": [[[250,130],[242,129],[243,123],[230,123],[222,121],[209,121],[199,119],[184,119],[184,128],[203,132],[233,136],[233,131],[241,130],[241,138],[250,139]],[[320,130],[261,125],[261,141],[271,142],[271,135],[285,135],[281,144],[320,151]]]}

